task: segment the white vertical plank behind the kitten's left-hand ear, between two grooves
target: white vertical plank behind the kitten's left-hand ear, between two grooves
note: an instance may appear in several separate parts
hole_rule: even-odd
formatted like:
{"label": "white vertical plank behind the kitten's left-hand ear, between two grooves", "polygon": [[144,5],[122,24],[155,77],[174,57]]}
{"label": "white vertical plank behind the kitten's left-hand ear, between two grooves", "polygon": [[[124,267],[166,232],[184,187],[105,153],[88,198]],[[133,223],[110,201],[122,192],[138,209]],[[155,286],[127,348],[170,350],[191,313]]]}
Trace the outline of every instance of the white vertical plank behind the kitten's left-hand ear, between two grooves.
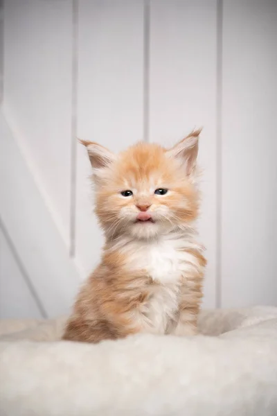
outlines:
{"label": "white vertical plank behind the kitten's left-hand ear, between two grooves", "polygon": [[[143,1],[80,1],[78,137],[123,150],[143,139]],[[100,258],[91,168],[78,146],[75,258],[82,276]]]}

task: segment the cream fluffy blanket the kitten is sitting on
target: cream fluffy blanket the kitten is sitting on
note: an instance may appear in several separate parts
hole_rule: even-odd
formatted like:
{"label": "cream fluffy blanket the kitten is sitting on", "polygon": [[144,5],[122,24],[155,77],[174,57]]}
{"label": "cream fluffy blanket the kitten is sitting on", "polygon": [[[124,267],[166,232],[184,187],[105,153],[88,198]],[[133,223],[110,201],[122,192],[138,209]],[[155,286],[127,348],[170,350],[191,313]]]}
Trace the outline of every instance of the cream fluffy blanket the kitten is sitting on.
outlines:
{"label": "cream fluffy blanket the kitten is sitting on", "polygon": [[63,324],[0,322],[1,416],[277,415],[277,308],[202,312],[194,338],[69,343]]}

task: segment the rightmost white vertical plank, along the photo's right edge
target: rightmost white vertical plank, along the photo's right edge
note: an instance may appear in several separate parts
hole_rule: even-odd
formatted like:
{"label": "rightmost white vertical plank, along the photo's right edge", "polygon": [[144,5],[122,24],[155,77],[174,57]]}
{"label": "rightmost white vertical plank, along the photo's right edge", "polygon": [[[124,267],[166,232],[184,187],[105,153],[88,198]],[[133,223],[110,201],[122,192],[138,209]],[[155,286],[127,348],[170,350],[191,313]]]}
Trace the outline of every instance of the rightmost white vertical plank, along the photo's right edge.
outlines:
{"label": "rightmost white vertical plank, along the photo's right edge", "polygon": [[277,3],[223,12],[222,305],[277,305]]}

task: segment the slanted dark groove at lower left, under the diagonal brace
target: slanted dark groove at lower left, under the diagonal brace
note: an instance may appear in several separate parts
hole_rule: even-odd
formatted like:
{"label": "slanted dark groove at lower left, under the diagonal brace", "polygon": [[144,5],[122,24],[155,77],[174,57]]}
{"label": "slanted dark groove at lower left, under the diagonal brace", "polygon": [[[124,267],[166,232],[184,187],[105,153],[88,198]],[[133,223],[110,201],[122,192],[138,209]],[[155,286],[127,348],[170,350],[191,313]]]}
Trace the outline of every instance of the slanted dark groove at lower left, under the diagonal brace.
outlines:
{"label": "slanted dark groove at lower left, under the diagonal brace", "polygon": [[46,310],[44,309],[42,301],[40,300],[39,295],[37,295],[37,291],[35,290],[35,287],[33,286],[33,283],[30,280],[30,277],[28,276],[28,272],[24,268],[24,264],[22,263],[19,257],[19,254],[17,253],[17,249],[15,248],[15,245],[12,243],[10,234],[8,233],[8,230],[4,226],[3,220],[1,220],[1,218],[0,218],[0,229],[3,232],[3,236],[5,237],[8,247],[10,248],[10,252],[12,253],[12,256],[14,257],[15,262],[17,263],[17,267],[20,270],[21,276],[23,277],[26,283],[26,286],[30,292],[30,295],[33,297],[33,300],[35,301],[35,304],[37,305],[37,309],[39,310],[39,313],[42,315],[42,318],[44,319],[48,318],[48,315],[46,313]]}

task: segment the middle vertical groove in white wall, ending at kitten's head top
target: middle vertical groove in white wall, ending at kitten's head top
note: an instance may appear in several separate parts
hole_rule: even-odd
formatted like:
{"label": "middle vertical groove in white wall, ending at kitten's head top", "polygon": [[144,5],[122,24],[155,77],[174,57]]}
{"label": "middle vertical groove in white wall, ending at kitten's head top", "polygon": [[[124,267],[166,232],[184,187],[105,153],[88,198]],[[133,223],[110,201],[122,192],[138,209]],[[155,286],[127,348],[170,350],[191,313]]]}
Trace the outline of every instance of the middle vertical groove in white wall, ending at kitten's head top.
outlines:
{"label": "middle vertical groove in white wall, ending at kitten's head top", "polygon": [[143,9],[143,140],[149,141],[150,0]]}

